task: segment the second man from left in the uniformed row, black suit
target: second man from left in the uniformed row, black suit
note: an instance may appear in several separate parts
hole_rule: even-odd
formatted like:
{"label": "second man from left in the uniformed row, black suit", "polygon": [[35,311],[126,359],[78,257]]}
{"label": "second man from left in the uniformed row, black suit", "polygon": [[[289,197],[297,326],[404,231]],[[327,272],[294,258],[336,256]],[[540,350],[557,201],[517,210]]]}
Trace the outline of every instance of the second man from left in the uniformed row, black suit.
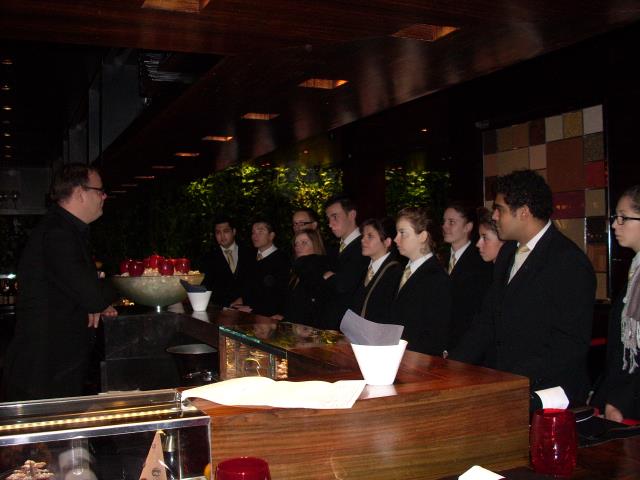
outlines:
{"label": "second man from left in the uniformed row, black suit", "polygon": [[254,222],[251,241],[257,249],[253,271],[244,279],[242,298],[233,302],[236,308],[258,315],[284,312],[284,299],[291,264],[287,254],[273,244],[276,233],[266,220]]}

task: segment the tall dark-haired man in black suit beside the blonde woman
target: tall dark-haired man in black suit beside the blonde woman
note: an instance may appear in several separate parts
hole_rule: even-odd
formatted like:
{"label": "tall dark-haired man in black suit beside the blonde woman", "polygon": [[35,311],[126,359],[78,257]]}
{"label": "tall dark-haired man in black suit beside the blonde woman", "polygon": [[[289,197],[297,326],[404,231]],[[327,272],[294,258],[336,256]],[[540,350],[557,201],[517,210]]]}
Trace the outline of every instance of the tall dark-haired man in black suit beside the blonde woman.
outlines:
{"label": "tall dark-haired man in black suit beside the blonde woman", "polygon": [[349,197],[339,195],[325,203],[325,213],[333,234],[340,239],[338,248],[329,251],[333,270],[325,272],[327,305],[326,329],[337,330],[343,315],[369,265],[362,255],[361,235],[356,223],[356,206]]}

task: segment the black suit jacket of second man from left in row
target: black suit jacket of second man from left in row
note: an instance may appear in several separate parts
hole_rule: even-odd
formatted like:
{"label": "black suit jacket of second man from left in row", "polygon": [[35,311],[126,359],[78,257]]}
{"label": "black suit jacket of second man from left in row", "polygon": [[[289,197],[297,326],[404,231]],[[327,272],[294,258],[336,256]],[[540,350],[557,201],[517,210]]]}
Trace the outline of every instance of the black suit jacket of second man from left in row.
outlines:
{"label": "black suit jacket of second man from left in row", "polygon": [[242,301],[258,315],[282,314],[289,281],[290,261],[284,250],[278,249],[253,263],[244,279]]}

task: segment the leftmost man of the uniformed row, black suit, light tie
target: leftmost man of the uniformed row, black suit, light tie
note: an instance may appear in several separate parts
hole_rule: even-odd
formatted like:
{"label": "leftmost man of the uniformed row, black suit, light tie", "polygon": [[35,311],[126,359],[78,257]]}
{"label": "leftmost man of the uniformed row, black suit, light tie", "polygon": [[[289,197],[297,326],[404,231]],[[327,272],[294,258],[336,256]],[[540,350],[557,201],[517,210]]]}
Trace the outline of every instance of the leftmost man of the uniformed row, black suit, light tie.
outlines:
{"label": "leftmost man of the uniformed row, black suit, light tie", "polygon": [[244,279],[253,269],[255,252],[238,246],[236,228],[229,217],[214,220],[214,229],[218,246],[202,261],[202,283],[212,291],[214,304],[228,307],[241,296]]}

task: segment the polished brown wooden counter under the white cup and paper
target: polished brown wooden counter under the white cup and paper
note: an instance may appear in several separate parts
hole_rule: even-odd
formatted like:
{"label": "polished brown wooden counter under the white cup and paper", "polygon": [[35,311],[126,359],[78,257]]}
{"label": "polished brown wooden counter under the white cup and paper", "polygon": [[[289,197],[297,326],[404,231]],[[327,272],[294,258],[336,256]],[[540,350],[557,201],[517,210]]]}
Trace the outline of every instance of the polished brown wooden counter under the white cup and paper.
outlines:
{"label": "polished brown wooden counter under the white cup and paper", "polygon": [[[268,322],[237,312],[211,320]],[[290,380],[362,378],[349,345],[289,352]],[[258,456],[274,479],[435,479],[474,464],[527,465],[528,402],[526,378],[408,351],[395,385],[366,387],[351,409],[194,403],[211,417],[214,464]]]}

